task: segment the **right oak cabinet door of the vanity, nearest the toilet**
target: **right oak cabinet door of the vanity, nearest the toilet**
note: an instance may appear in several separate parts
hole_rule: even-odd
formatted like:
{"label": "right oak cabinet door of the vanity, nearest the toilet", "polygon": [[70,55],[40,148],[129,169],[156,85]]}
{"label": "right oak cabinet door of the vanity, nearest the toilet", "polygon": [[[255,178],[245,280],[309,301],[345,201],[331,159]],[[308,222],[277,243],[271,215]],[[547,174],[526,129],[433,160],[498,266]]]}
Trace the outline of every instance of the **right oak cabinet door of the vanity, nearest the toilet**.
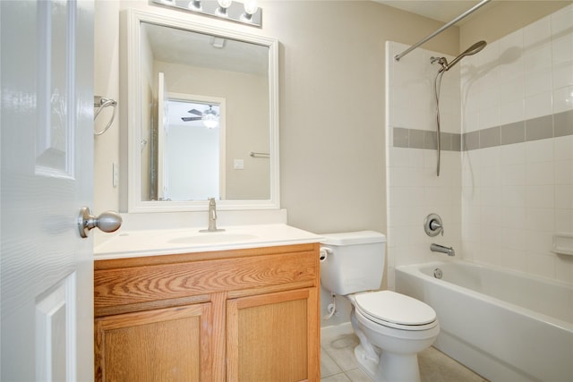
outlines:
{"label": "right oak cabinet door of the vanity, nearest the toilet", "polygon": [[317,288],[227,301],[227,381],[318,381]]}

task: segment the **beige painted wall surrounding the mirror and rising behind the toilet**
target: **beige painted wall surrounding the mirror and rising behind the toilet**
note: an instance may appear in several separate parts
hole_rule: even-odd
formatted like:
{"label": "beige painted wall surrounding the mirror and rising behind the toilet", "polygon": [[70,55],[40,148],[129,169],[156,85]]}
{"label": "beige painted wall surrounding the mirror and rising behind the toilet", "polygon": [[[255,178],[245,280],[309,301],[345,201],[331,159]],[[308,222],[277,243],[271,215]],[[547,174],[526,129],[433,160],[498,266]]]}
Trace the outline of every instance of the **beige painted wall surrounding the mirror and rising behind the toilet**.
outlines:
{"label": "beige painted wall surrounding the mirror and rising behind the toilet", "polygon": [[[262,29],[189,17],[280,41],[280,191],[289,224],[315,233],[385,232],[384,44],[414,44],[441,23],[369,1],[260,5]],[[129,7],[169,12],[147,0],[96,2],[96,91],[108,97],[118,93],[117,13]],[[452,28],[424,47],[453,55],[458,46]],[[96,139],[97,210],[118,208],[111,166],[125,128],[115,123]]]}

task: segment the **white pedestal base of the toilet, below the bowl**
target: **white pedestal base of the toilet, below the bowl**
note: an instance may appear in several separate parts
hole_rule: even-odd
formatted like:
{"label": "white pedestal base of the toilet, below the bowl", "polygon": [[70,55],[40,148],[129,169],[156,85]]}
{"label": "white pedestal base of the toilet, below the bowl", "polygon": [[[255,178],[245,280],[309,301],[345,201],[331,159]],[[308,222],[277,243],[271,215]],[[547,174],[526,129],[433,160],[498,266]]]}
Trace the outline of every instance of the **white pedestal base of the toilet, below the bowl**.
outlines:
{"label": "white pedestal base of the toilet, below the bowl", "polygon": [[417,354],[381,352],[380,361],[368,357],[361,345],[355,347],[360,369],[374,382],[420,382]]}

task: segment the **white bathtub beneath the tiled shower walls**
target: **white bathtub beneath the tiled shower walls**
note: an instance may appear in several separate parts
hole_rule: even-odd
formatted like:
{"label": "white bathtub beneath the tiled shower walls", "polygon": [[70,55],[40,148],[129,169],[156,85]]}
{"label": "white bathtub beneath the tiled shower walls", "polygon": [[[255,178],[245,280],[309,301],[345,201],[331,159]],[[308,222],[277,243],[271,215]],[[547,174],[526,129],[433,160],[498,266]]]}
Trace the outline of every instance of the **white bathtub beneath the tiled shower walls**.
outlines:
{"label": "white bathtub beneath the tiled shower walls", "polygon": [[573,381],[571,285],[455,260],[396,267],[396,290],[432,306],[434,346],[484,378]]}

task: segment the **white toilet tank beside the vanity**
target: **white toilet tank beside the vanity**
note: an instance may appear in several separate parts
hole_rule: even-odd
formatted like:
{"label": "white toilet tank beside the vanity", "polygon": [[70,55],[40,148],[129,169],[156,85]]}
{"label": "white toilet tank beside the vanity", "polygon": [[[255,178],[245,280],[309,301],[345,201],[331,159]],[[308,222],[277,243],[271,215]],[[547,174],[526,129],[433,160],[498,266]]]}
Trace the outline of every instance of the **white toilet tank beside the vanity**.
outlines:
{"label": "white toilet tank beside the vanity", "polygon": [[346,295],[380,289],[384,274],[386,236],[374,231],[321,234],[321,284]]}

